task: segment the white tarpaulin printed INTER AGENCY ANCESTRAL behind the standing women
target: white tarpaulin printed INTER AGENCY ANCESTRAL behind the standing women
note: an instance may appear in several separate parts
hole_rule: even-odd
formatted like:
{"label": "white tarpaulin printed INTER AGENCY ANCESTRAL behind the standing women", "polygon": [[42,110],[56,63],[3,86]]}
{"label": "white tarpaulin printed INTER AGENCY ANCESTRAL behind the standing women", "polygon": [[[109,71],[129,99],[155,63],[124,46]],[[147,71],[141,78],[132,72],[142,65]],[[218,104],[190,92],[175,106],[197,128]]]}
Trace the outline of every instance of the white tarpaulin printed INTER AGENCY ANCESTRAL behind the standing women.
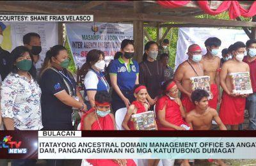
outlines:
{"label": "white tarpaulin printed INTER AGENCY ANCESTRAL behind the standing women", "polygon": [[68,23],[68,43],[70,45],[76,66],[81,67],[86,62],[86,55],[92,49],[102,50],[108,64],[120,51],[124,39],[133,38],[132,24],[118,23]]}

